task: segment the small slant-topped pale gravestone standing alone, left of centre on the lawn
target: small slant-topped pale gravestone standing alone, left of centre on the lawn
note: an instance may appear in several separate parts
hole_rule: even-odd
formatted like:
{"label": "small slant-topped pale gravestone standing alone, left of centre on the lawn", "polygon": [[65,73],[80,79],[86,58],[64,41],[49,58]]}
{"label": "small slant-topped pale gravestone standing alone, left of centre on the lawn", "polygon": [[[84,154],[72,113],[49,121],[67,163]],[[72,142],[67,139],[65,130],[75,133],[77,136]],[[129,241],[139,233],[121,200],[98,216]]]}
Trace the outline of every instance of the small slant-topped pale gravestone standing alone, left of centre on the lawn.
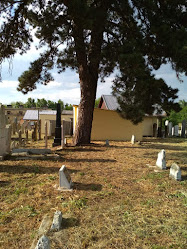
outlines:
{"label": "small slant-topped pale gravestone standing alone, left of centre on the lawn", "polygon": [[72,188],[71,177],[65,165],[62,165],[59,170],[59,185],[59,190]]}

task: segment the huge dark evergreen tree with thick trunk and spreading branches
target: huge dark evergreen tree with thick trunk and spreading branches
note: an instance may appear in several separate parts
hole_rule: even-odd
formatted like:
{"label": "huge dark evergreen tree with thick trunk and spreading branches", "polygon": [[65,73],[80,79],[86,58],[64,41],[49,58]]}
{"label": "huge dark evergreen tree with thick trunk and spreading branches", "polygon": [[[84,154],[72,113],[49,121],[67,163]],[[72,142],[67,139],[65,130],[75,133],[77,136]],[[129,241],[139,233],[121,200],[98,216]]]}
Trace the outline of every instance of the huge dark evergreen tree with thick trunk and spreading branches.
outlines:
{"label": "huge dark evergreen tree with thick trunk and spreading branches", "polygon": [[[177,89],[152,70],[170,62],[178,77],[187,67],[186,0],[1,0],[0,62],[25,53],[36,29],[46,48],[19,77],[18,90],[52,80],[57,65],[79,73],[81,102],[75,143],[90,142],[98,78],[118,69],[113,94],[134,123],[155,104],[177,109]],[[62,46],[65,45],[65,46]]]}

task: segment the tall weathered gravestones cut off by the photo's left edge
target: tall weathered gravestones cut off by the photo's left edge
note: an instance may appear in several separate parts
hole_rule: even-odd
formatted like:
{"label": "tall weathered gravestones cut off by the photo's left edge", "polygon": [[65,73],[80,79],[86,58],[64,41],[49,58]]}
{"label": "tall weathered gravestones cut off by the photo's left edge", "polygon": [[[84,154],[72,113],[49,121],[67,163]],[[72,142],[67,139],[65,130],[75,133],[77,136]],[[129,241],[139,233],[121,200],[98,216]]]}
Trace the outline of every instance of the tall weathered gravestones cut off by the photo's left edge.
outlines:
{"label": "tall weathered gravestones cut off by the photo's left edge", "polygon": [[5,108],[0,105],[0,156],[10,152],[11,125],[6,124]]}

